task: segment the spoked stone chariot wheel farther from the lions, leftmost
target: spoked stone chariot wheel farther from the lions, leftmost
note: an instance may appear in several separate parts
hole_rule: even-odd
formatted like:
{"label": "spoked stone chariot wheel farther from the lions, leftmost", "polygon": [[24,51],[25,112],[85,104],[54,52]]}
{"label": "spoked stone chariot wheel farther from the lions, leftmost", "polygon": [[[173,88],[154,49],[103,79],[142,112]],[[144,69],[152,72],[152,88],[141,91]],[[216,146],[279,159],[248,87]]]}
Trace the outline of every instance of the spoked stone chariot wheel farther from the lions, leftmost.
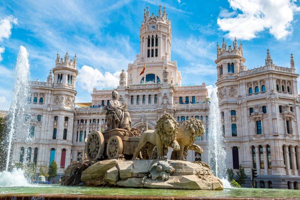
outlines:
{"label": "spoked stone chariot wheel farther from the lions, leftmost", "polygon": [[104,137],[100,131],[93,130],[88,134],[85,153],[89,161],[96,161],[103,156]]}

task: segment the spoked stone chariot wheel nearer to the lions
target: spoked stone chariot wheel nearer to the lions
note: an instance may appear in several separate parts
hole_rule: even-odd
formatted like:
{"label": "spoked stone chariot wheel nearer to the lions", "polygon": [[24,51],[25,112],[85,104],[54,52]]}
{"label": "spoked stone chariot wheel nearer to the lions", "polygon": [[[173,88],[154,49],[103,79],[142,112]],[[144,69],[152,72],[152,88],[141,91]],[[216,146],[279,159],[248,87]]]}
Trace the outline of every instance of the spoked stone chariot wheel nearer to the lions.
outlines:
{"label": "spoked stone chariot wheel nearer to the lions", "polygon": [[123,142],[122,139],[113,135],[108,139],[106,153],[109,159],[117,159],[123,152]]}

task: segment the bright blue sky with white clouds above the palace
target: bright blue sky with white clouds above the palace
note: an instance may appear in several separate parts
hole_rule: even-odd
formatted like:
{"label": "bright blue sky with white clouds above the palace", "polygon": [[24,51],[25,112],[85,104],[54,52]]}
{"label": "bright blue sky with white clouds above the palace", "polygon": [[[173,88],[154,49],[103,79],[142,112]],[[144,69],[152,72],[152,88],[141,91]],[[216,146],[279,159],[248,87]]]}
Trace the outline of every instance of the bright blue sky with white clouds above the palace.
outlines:
{"label": "bright blue sky with white clouds above the palace", "polygon": [[[247,68],[264,64],[270,49],[276,65],[300,63],[300,3],[295,0],[157,0],[172,27],[171,59],[182,83],[216,81],[216,42],[242,40]],[[29,52],[30,79],[45,81],[56,52],[77,54],[76,102],[91,101],[93,87],[113,87],[119,71],[139,52],[143,9],[155,0],[1,0],[0,109],[7,109],[20,45]],[[84,66],[84,67],[83,67]],[[298,71],[299,72],[299,71]]]}

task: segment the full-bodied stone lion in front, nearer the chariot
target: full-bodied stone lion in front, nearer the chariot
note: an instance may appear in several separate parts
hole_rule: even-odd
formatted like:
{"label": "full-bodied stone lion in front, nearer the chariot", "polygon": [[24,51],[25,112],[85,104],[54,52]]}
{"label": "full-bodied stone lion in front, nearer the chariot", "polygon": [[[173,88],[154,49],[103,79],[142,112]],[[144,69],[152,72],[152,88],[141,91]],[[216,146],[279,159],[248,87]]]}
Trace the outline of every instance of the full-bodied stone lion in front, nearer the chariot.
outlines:
{"label": "full-bodied stone lion in front, nearer the chariot", "polygon": [[155,130],[144,131],[140,135],[140,139],[135,149],[132,159],[137,159],[137,155],[143,147],[148,144],[147,154],[149,158],[152,158],[153,148],[156,147],[157,157],[156,159],[166,159],[164,157],[165,150],[168,146],[174,150],[179,150],[180,146],[176,141],[176,134],[178,131],[178,123],[174,117],[168,113],[163,114],[156,122]]}

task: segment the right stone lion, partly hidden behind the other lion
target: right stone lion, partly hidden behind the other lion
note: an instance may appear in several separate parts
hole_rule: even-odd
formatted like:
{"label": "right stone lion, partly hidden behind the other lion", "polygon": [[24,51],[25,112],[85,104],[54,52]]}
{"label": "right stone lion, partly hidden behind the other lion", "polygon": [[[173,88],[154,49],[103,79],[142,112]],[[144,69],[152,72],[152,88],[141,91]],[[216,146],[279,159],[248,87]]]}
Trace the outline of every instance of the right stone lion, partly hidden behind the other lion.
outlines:
{"label": "right stone lion, partly hidden behind the other lion", "polygon": [[178,128],[176,140],[179,143],[180,149],[173,150],[171,153],[171,159],[185,160],[184,156],[187,155],[187,150],[195,150],[199,153],[203,152],[203,149],[193,142],[195,138],[201,136],[204,133],[204,126],[200,119],[191,117],[187,121],[184,121]]}

